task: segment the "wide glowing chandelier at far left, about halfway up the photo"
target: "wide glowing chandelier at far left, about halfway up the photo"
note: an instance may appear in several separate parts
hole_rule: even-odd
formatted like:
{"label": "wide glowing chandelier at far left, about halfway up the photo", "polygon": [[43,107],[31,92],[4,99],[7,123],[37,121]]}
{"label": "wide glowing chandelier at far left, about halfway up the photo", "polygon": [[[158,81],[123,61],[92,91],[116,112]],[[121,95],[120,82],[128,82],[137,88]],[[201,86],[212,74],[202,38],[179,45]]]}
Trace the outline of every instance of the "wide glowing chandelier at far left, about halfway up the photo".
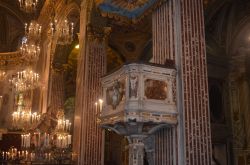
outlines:
{"label": "wide glowing chandelier at far left, about halfway up the photo", "polygon": [[38,87],[39,75],[28,68],[24,71],[17,72],[9,81],[16,92],[23,92]]}

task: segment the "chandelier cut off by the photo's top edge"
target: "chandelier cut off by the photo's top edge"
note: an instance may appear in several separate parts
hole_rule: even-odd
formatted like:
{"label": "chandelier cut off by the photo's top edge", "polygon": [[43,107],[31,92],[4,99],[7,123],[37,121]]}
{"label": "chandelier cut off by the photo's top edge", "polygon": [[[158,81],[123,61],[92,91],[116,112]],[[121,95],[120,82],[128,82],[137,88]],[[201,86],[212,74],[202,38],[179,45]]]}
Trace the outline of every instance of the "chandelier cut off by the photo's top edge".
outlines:
{"label": "chandelier cut off by the photo's top edge", "polygon": [[36,11],[38,0],[19,0],[19,7],[26,13],[34,13]]}

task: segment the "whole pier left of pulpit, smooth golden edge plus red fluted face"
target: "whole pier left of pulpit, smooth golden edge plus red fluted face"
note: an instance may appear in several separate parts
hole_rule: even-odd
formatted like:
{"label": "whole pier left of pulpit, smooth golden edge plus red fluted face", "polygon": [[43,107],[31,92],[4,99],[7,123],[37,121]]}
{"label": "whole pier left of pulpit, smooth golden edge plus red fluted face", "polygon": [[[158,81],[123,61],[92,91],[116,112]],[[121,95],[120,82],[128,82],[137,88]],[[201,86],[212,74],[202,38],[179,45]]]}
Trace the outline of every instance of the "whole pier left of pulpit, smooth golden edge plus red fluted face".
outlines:
{"label": "whole pier left of pulpit, smooth golden edge plus red fluted face", "polygon": [[89,26],[90,2],[82,2],[77,68],[73,151],[79,165],[101,165],[103,131],[97,125],[95,102],[102,97],[100,78],[106,73],[105,29]]}

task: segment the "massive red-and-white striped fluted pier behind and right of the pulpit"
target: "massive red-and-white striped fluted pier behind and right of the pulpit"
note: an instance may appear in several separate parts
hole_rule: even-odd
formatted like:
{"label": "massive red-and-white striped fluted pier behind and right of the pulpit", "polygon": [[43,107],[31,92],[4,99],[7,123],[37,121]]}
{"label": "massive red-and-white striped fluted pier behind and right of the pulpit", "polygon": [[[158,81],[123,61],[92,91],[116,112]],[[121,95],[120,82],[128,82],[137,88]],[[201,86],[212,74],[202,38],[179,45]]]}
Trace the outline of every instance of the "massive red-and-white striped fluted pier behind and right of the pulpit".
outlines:
{"label": "massive red-and-white striped fluted pier behind and right of the pulpit", "polygon": [[[174,60],[178,72],[176,98],[179,121],[175,137],[178,153],[172,155],[172,158],[177,156],[178,164],[209,165],[211,135],[203,1],[169,0],[154,12],[152,21],[152,62],[164,64],[167,59]],[[156,135],[158,139],[174,138],[164,136],[164,132],[162,134]],[[158,151],[164,156],[171,149]],[[161,165],[162,161],[158,161]],[[163,164],[172,165],[175,162]]]}

